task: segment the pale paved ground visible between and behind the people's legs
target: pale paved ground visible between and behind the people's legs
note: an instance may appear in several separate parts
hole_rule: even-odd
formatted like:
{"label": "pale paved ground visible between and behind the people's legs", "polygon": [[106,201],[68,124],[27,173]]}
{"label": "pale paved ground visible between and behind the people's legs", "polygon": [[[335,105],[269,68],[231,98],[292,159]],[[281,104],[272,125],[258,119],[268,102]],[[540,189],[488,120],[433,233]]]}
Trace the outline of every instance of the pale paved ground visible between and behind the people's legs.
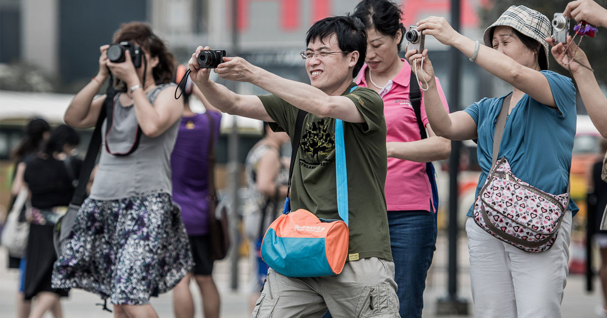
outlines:
{"label": "pale paved ground visible between and behind the people's legs", "polygon": [[[470,293],[469,264],[467,260],[467,246],[465,238],[458,244],[459,251],[459,296],[470,302],[470,317],[473,316],[472,296]],[[572,251],[574,254],[575,251]],[[6,252],[0,248],[0,264],[6,264]],[[229,265],[226,261],[216,264],[214,277],[222,294],[222,317],[244,318],[249,317],[247,313],[247,284],[249,264],[242,259],[239,265],[240,286],[237,291],[229,289]],[[436,300],[446,296],[447,293],[447,240],[439,237],[437,251],[433,267],[430,269],[427,280],[426,293],[424,295],[424,317],[436,317]],[[18,274],[15,271],[7,271],[3,266],[0,268],[0,317],[15,317],[15,290],[17,288]],[[594,316],[594,308],[600,302],[599,292],[588,294],[585,291],[585,278],[582,275],[570,275],[565,289],[562,312],[565,318],[591,318]],[[598,283],[598,282],[597,282]],[[197,289],[192,286],[192,291],[197,294]],[[152,305],[160,317],[173,317],[171,308],[171,292],[152,299]],[[112,314],[101,311],[94,304],[99,298],[93,294],[83,291],[72,291],[68,300],[63,302],[64,313],[67,318],[110,318]],[[47,317],[50,317],[47,315]],[[200,314],[200,300],[197,300],[197,317]],[[439,317],[461,317],[461,316],[439,316]],[[280,317],[282,318],[282,317]]]}

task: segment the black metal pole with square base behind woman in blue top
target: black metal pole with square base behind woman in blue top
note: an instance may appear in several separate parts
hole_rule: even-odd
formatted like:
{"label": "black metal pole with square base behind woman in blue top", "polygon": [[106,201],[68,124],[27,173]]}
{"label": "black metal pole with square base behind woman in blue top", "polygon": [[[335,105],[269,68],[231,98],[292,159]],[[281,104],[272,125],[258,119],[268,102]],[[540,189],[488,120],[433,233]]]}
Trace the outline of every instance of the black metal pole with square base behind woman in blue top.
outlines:
{"label": "black metal pole with square base behind woman in blue top", "polygon": [[[451,26],[457,32],[460,29],[460,1],[451,0]],[[459,110],[459,89],[461,78],[461,53],[455,47],[450,49],[451,67],[449,72],[449,105],[452,111]],[[448,296],[439,299],[436,306],[437,315],[467,315],[468,303],[457,296],[457,246],[458,246],[458,167],[461,142],[451,143],[449,157],[449,269]]]}

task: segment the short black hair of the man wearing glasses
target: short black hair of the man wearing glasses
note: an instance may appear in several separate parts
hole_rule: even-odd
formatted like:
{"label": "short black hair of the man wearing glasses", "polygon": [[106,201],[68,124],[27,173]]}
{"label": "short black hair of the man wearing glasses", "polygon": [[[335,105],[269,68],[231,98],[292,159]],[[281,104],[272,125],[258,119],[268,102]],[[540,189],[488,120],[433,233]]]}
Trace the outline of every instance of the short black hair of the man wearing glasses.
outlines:
{"label": "short black hair of the man wearing glasses", "polygon": [[[342,52],[358,51],[358,61],[352,71],[352,77],[358,75],[362,64],[365,63],[365,55],[367,54],[367,32],[361,20],[355,16],[332,16],[316,21],[310,27],[305,37],[306,46],[310,41],[320,40],[320,43],[325,44],[326,40],[332,34],[337,36],[337,45]],[[344,54],[345,55],[345,54]]]}

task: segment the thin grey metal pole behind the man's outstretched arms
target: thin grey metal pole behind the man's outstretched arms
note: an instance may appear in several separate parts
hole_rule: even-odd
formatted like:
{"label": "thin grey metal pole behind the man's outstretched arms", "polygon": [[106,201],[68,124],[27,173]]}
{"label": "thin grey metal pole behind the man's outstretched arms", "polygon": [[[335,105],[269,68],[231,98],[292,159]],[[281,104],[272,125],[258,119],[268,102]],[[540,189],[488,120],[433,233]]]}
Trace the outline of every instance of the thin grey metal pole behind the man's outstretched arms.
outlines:
{"label": "thin grey metal pole behind the man's outstretched arms", "polygon": [[[236,57],[238,56],[238,12],[237,8],[237,0],[230,1],[231,10],[232,10],[232,52],[230,52],[230,56]],[[232,92],[237,91],[236,81],[228,81],[226,86]],[[238,162],[238,125],[236,123],[236,116],[232,117],[232,131],[229,134],[228,139],[228,162],[229,162],[229,178],[230,178],[230,194],[232,196],[232,209],[231,209],[231,218],[230,219],[230,237],[232,238],[232,248],[230,249],[229,257],[231,260],[231,275],[230,275],[230,288],[232,291],[236,291],[238,289],[238,245],[239,245],[239,233],[238,233],[238,206],[239,206],[239,198],[238,198],[238,188],[239,188],[239,162]]]}

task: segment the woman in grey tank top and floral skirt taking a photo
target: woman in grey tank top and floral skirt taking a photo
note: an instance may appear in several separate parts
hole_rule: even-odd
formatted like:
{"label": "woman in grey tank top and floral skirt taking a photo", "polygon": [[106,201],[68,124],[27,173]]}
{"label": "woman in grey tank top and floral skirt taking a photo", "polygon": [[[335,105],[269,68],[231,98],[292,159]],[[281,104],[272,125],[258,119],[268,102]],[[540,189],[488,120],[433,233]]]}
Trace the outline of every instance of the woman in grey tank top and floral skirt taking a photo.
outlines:
{"label": "woman in grey tank top and floral skirt taking a photo", "polygon": [[174,57],[148,24],[123,24],[113,41],[129,41],[141,55],[127,45],[133,52],[113,63],[109,46],[101,46],[97,76],[67,108],[68,125],[94,126],[106,99],[95,94],[112,72],[120,92],[106,109],[112,116],[103,123],[98,171],[52,283],[109,299],[115,317],[157,317],[150,296],[172,289],[192,267],[180,210],[171,199],[170,156],[183,102],[173,95]]}

